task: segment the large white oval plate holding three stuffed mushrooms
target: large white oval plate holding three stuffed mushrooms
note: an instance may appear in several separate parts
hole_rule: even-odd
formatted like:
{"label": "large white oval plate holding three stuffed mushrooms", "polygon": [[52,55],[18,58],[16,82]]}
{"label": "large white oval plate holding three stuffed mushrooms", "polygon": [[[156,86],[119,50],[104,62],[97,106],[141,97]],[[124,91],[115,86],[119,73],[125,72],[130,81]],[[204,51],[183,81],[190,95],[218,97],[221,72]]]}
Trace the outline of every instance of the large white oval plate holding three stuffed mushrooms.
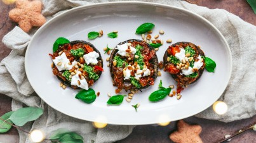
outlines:
{"label": "large white oval plate holding three stuffed mushrooms", "polygon": [[[192,42],[205,52],[205,55],[215,60],[215,73],[204,72],[195,84],[182,92],[182,98],[166,97],[158,103],[148,99],[151,92],[158,90],[159,80],[163,86],[175,84],[172,77],[161,70],[154,86],[136,94],[131,103],[124,99],[120,106],[107,106],[107,93],[114,94],[116,87],[112,86],[111,75],[105,59],[103,48],[115,47],[119,42],[128,39],[141,39],[135,34],[139,25],[145,22],[154,23],[153,33],[164,30],[159,39],[172,39],[173,43],[180,41]],[[103,30],[103,37],[90,40],[88,32]],[[118,30],[118,38],[107,37],[109,32]],[[59,80],[51,70],[53,43],[58,37],[69,40],[86,40],[91,42],[102,54],[104,72],[93,85],[100,96],[92,104],[83,103],[74,98],[78,90],[60,88]],[[163,44],[157,51],[159,61],[170,44]],[[179,120],[199,113],[211,106],[224,92],[231,76],[231,52],[226,40],[210,22],[199,15],[185,9],[154,3],[118,2],[101,3],[81,6],[56,16],[37,30],[30,41],[25,54],[25,70],[29,82],[37,94],[58,111],[88,121],[99,121],[117,125],[143,125]],[[121,94],[127,94],[121,92]],[[131,105],[140,103],[138,112]]]}

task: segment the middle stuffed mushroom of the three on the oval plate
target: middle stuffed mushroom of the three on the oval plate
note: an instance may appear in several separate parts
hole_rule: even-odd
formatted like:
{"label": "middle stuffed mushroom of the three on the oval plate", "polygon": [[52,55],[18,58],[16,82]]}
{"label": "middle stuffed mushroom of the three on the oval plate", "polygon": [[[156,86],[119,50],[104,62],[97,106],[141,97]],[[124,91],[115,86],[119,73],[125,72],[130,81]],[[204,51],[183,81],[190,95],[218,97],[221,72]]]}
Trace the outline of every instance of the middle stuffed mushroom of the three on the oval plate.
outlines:
{"label": "middle stuffed mushroom of the three on the oval plate", "polygon": [[113,85],[122,89],[140,90],[154,85],[158,77],[158,57],[154,48],[143,40],[126,40],[116,46],[110,57]]}

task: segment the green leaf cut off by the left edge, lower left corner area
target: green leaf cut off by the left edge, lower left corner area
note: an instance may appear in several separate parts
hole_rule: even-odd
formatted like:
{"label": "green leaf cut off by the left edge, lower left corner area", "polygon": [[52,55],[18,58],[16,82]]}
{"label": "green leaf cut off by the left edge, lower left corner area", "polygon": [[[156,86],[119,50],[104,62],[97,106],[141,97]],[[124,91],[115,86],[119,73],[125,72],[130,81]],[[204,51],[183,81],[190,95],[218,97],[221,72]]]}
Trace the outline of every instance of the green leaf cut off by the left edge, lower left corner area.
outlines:
{"label": "green leaf cut off by the left edge, lower left corner area", "polygon": [[[5,113],[3,116],[0,117],[1,119],[6,120],[6,121],[0,120],[0,133],[5,133],[8,130],[10,130],[10,128],[11,128],[10,124],[13,124],[13,122],[11,120],[8,120],[8,118],[10,118],[11,114],[13,114],[13,111]],[[6,122],[8,122],[10,124],[8,124]]]}

